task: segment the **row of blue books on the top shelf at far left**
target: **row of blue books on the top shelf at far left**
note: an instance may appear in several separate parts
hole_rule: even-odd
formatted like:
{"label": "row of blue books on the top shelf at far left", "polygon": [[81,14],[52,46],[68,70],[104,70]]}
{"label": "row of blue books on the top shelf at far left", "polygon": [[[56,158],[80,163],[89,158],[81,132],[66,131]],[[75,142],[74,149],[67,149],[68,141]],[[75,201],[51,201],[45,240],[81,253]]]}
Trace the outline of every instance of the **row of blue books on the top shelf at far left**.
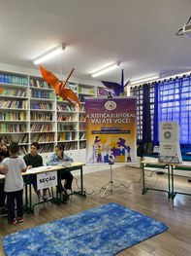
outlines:
{"label": "row of blue books on the top shelf at far left", "polygon": [[27,79],[27,77],[8,75],[8,74],[0,74],[0,83],[27,86],[28,79]]}

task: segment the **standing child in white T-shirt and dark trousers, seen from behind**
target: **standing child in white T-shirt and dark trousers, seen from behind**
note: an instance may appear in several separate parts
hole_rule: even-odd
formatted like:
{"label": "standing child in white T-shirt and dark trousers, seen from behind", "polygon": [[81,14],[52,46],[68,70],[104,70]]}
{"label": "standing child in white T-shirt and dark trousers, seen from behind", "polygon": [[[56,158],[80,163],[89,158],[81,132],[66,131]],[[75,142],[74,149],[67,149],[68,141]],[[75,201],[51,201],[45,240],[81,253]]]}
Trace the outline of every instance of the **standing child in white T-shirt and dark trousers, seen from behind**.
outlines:
{"label": "standing child in white T-shirt and dark trousers, seen from behind", "polygon": [[[21,172],[26,171],[26,165],[22,158],[17,156],[19,146],[16,142],[10,144],[10,158],[2,161],[2,165],[8,167],[5,171],[5,187],[7,194],[8,220],[12,224],[23,222],[23,179]],[[16,204],[16,205],[15,205]],[[17,218],[15,215],[17,209]]]}

